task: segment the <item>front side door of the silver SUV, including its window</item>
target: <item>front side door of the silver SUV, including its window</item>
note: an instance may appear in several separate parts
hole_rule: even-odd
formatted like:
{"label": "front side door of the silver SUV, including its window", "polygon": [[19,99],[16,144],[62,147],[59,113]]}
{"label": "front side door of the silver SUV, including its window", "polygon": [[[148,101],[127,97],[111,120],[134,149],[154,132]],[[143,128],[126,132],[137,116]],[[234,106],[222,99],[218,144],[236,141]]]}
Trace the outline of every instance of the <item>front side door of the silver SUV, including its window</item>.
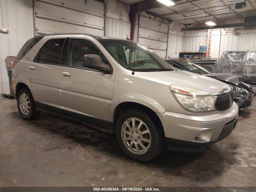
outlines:
{"label": "front side door of the silver SUV, including its window", "polygon": [[70,38],[67,46],[67,63],[62,66],[60,80],[63,108],[108,121],[114,76],[83,66],[86,54],[98,54],[102,61],[105,57],[90,40]]}

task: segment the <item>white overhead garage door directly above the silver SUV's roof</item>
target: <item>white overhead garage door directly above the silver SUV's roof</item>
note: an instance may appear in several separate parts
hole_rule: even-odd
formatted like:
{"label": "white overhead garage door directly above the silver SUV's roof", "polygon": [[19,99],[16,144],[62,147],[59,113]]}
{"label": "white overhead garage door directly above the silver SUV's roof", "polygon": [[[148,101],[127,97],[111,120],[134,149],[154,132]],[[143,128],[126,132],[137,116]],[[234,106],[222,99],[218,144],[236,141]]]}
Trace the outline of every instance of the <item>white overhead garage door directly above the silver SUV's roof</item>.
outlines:
{"label": "white overhead garage door directly above the silver SUV's roof", "polygon": [[35,0],[37,34],[88,33],[104,36],[104,4],[94,0]]}

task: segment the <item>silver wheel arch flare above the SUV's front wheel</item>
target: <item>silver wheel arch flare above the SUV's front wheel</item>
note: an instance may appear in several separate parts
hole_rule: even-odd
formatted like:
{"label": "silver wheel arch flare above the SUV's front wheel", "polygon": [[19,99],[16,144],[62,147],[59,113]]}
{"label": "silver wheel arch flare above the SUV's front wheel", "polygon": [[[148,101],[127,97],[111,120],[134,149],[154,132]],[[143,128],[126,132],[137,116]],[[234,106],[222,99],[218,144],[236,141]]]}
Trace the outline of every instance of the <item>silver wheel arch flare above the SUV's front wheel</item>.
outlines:
{"label": "silver wheel arch flare above the SUV's front wheel", "polygon": [[116,107],[123,102],[134,102],[142,104],[156,113],[164,113],[166,110],[155,100],[148,96],[135,93],[125,93],[120,95],[118,98],[113,99],[110,106],[110,121],[114,120],[114,111]]}

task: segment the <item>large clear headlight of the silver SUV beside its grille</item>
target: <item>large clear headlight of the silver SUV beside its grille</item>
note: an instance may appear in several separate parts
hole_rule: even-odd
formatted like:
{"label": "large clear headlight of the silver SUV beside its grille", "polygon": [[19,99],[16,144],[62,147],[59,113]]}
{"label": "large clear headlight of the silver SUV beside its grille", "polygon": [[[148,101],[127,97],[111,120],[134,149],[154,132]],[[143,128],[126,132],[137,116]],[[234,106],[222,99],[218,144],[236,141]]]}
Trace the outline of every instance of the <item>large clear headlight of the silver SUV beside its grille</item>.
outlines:
{"label": "large clear headlight of the silver SUV beside its grille", "polygon": [[172,85],[170,89],[178,102],[193,112],[207,112],[215,110],[217,96],[211,96],[202,90],[187,86]]}

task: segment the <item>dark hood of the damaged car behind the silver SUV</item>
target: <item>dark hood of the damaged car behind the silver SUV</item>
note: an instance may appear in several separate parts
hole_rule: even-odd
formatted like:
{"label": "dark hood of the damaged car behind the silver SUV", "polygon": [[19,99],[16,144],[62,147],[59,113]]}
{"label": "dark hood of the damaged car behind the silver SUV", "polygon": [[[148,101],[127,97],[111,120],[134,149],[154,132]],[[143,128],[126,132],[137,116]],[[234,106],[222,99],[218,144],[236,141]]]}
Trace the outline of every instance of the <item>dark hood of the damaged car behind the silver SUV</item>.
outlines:
{"label": "dark hood of the damaged car behind the silver SUV", "polygon": [[239,86],[239,84],[241,82],[245,82],[246,79],[243,78],[242,76],[238,76],[238,75],[230,75],[230,74],[216,74],[216,73],[212,73],[212,74],[205,74],[204,76],[208,76],[220,81],[224,81],[227,82],[228,84],[233,84],[236,86]]}

